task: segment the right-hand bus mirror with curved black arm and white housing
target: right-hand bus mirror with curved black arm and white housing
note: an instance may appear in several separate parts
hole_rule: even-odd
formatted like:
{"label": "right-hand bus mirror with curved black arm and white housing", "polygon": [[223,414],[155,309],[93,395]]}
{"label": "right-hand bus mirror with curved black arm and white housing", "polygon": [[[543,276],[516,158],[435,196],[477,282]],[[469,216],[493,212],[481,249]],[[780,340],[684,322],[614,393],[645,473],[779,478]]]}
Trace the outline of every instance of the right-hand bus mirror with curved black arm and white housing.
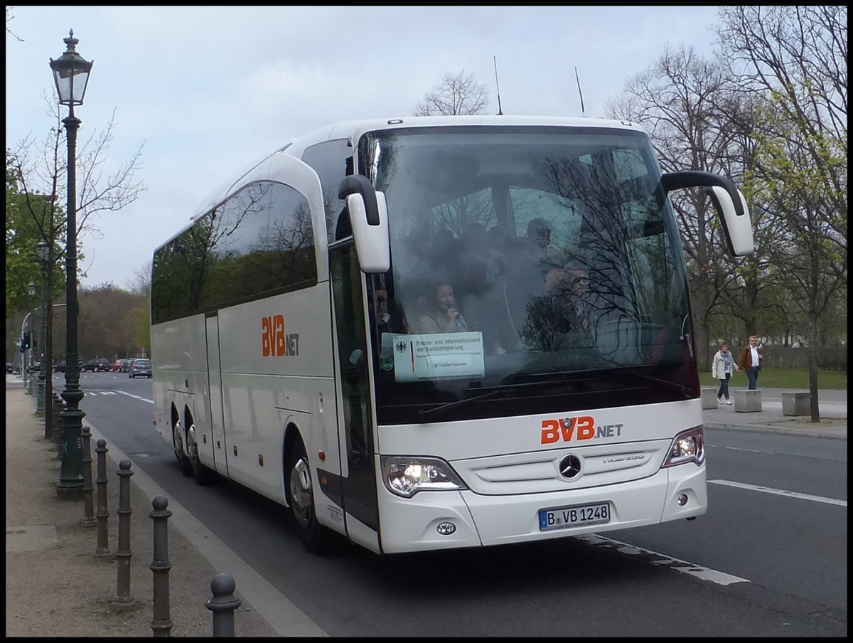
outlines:
{"label": "right-hand bus mirror with curved black arm and white housing", "polygon": [[686,170],[667,172],[660,178],[660,183],[667,194],[678,188],[705,188],[720,216],[728,252],[739,257],[754,252],[752,222],[746,198],[731,180],[713,172]]}

